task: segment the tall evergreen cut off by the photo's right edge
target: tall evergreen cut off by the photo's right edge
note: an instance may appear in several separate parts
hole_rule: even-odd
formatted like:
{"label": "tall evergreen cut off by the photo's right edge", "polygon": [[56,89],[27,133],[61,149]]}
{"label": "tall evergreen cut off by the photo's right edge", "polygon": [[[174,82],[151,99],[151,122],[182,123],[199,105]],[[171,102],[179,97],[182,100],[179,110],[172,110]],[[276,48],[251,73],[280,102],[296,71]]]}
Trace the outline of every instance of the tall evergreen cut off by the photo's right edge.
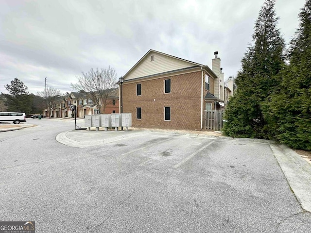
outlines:
{"label": "tall evergreen cut off by the photo's right edge", "polygon": [[299,14],[290,43],[290,64],[281,72],[279,93],[266,101],[265,118],[276,138],[294,149],[311,150],[311,0]]}

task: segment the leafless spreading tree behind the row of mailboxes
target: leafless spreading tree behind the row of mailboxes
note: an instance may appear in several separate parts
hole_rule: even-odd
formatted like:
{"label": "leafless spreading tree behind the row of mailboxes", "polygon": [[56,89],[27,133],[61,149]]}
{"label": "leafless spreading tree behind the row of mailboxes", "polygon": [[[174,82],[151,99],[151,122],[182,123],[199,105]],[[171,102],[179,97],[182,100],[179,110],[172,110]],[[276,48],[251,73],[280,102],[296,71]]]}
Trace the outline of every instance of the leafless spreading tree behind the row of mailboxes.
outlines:
{"label": "leafless spreading tree behind the row of mailboxes", "polygon": [[91,69],[77,77],[78,83],[70,83],[72,89],[85,91],[89,99],[93,100],[97,109],[105,113],[106,105],[111,93],[117,87],[117,73],[112,67],[99,70]]}

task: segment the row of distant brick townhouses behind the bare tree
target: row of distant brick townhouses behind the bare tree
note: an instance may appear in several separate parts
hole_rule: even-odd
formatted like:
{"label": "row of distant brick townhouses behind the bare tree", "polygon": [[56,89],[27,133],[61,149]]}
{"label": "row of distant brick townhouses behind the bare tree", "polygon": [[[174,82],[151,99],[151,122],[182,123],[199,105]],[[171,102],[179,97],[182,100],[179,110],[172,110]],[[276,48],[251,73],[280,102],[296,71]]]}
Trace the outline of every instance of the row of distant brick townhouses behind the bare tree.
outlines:
{"label": "row of distant brick townhouses behind the bare tree", "polygon": [[[77,117],[83,118],[85,115],[100,113],[100,110],[97,109],[97,106],[89,99],[87,93],[71,92],[70,94],[67,93],[65,98],[61,98],[54,102],[52,117],[74,117],[74,113],[71,111],[69,104],[76,105]],[[111,92],[106,102],[105,113],[119,113],[119,88]],[[43,114],[49,116],[49,111],[45,109]]]}

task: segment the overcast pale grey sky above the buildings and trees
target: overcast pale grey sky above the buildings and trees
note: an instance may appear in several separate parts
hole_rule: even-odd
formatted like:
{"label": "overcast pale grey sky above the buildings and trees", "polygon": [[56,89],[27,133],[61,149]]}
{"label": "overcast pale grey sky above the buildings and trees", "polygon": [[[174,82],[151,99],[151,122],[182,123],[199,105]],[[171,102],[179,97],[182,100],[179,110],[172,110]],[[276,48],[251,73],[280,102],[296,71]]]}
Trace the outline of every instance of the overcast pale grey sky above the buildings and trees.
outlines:
{"label": "overcast pale grey sky above the buildings and trees", "polygon": [[[14,78],[31,93],[71,91],[76,76],[114,67],[124,75],[150,49],[236,75],[264,0],[0,0],[0,92]],[[305,0],[277,0],[289,42]]]}

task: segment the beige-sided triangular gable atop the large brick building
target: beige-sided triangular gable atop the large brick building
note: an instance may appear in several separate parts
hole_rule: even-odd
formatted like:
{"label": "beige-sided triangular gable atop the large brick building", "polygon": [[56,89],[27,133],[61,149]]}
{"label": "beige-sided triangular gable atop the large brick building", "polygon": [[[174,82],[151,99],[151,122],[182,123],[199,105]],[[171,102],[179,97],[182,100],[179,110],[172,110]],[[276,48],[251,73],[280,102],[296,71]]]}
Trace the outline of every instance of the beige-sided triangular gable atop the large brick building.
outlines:
{"label": "beige-sided triangular gable atop the large brick building", "polygon": [[[147,58],[154,55],[157,61],[149,61]],[[150,62],[154,62],[151,64]],[[164,66],[163,66],[164,64]],[[140,67],[141,66],[141,67]],[[159,52],[156,50],[149,50],[139,61],[123,75],[124,81],[135,79],[135,78],[145,78],[154,75],[160,75],[165,73],[170,73],[173,71],[181,71],[190,68],[204,67],[207,69],[208,73],[214,75],[216,74],[207,66],[192,62],[186,59],[182,59],[170,54]]]}

